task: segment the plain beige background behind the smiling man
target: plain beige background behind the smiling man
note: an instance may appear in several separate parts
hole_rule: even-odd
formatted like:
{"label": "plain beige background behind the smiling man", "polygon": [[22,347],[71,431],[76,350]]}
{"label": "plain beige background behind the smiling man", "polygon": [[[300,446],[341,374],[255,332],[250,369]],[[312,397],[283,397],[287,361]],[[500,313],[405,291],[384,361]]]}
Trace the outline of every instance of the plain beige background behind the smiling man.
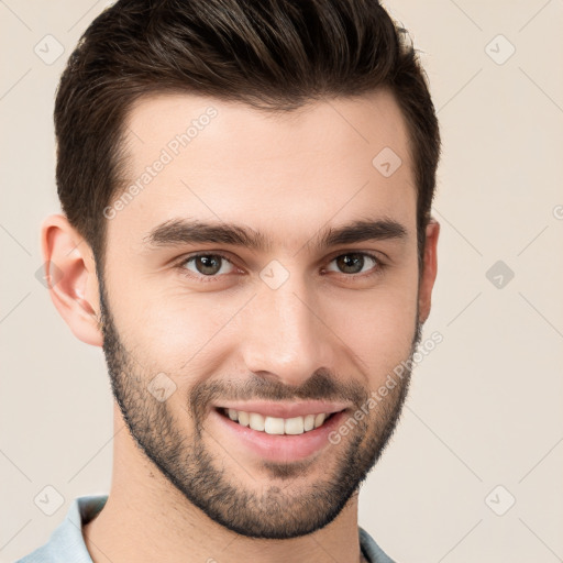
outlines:
{"label": "plain beige background behind the smiling man", "polygon": [[[55,87],[106,4],[0,1],[3,563],[45,542],[76,496],[110,486],[101,350],[73,336],[34,277],[40,223],[58,211]],[[415,372],[360,523],[400,563],[563,561],[563,2],[387,7],[426,53],[442,128],[424,339],[440,331],[443,342]],[[64,47],[52,64],[34,52],[45,42],[49,56]],[[515,275],[500,288],[486,275],[497,261]],[[53,516],[34,504],[47,485],[64,497]]]}

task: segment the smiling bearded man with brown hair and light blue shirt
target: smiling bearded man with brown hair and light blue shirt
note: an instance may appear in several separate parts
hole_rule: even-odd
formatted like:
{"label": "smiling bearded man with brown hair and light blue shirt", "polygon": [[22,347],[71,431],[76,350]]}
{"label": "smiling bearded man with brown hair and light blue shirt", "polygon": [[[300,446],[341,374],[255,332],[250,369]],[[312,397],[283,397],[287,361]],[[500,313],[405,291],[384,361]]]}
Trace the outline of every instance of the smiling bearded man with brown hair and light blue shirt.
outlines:
{"label": "smiling bearded man with brown hair and light blue shirt", "polygon": [[358,489],[439,235],[439,129],[402,30],[367,0],[121,0],[55,124],[43,252],[57,310],[103,349],[114,464],[21,561],[391,561]]}

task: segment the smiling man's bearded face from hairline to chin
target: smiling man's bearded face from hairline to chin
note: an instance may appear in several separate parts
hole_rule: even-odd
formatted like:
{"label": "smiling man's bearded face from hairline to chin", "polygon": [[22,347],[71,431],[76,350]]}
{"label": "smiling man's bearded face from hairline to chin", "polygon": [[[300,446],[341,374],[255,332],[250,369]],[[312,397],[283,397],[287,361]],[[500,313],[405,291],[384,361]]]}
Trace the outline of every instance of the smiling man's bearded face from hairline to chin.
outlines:
{"label": "smiling man's bearded face from hairline to chin", "polygon": [[[420,339],[400,111],[386,92],[279,115],[178,95],[143,100],[128,125],[128,186],[141,189],[107,212],[100,280],[123,418],[179,501],[222,526],[277,539],[322,528],[382,453],[410,374],[354,413]],[[402,162],[390,175],[389,148]],[[329,229],[383,220],[402,233],[387,224],[386,238],[364,230],[322,244]],[[263,245],[194,241],[209,232],[177,221],[236,224]],[[224,415],[245,401],[343,412],[302,434],[268,434]],[[346,421],[338,443],[327,439]]]}

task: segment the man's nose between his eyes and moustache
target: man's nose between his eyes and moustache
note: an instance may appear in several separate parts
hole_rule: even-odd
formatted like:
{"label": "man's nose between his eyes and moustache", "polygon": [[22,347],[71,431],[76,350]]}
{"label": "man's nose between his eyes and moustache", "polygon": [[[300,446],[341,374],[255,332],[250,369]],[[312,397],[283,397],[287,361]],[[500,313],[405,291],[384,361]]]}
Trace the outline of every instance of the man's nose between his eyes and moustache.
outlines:
{"label": "man's nose between his eyes and moustache", "polygon": [[319,368],[333,368],[338,340],[323,321],[321,301],[297,278],[290,275],[277,289],[261,285],[241,327],[246,369],[288,386],[302,385]]}

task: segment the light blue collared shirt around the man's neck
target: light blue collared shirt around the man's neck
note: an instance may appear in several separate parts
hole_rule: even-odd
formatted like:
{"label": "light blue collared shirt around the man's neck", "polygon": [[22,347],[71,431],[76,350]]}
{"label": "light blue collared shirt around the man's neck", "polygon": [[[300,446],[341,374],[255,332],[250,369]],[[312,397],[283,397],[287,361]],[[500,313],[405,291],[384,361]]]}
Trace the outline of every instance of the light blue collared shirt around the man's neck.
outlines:
{"label": "light blue collared shirt around the man's neck", "polygon": [[[90,495],[73,500],[66,518],[49,540],[15,563],[92,563],[82,538],[82,526],[103,508],[108,495]],[[371,563],[394,563],[360,526],[360,547]]]}

